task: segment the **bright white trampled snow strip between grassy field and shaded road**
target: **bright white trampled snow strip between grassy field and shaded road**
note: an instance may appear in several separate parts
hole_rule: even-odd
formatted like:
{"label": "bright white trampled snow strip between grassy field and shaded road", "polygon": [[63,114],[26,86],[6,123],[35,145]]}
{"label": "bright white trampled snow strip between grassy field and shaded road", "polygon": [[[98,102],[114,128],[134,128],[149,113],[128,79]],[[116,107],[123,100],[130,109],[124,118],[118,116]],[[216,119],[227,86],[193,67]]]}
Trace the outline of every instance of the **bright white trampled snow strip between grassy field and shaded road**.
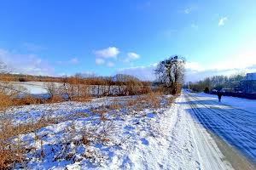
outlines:
{"label": "bright white trampled snow strip between grassy field and shaded road", "polygon": [[159,117],[159,136],[128,155],[135,169],[233,169],[214,139],[185,111],[183,96]]}

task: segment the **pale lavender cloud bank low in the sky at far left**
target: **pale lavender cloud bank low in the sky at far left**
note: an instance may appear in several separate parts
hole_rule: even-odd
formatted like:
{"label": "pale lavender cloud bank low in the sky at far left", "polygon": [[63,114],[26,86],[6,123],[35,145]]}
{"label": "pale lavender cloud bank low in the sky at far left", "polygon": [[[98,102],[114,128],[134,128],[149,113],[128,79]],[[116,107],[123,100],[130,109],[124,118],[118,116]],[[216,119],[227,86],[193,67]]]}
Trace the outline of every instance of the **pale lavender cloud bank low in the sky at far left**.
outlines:
{"label": "pale lavender cloud bank low in the sky at far left", "polygon": [[35,54],[13,54],[0,48],[0,61],[5,63],[12,73],[47,76],[54,73],[54,68]]}

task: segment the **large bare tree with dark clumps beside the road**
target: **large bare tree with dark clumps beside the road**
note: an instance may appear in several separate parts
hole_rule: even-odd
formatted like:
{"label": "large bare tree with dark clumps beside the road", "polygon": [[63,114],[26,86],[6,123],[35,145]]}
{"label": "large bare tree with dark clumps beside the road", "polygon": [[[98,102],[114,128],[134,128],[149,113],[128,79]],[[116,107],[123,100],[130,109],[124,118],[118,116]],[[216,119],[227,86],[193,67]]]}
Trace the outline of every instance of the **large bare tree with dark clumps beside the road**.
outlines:
{"label": "large bare tree with dark clumps beside the road", "polygon": [[183,83],[185,59],[174,55],[168,59],[160,61],[154,70],[158,81],[168,89],[169,93],[177,94],[178,87]]}

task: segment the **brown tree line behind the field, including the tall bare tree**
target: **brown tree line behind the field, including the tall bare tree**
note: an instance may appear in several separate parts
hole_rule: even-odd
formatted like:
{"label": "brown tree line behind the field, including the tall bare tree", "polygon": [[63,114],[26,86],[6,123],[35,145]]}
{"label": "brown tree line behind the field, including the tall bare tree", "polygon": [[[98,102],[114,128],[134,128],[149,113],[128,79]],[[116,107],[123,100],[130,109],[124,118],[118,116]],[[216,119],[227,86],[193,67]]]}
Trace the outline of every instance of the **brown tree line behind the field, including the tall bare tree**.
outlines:
{"label": "brown tree line behind the field, including the tall bare tree", "polygon": [[[0,64],[0,94],[3,98],[17,100],[14,96],[17,96],[20,92],[12,87],[11,82],[44,82],[44,86],[49,93],[48,101],[57,102],[63,99],[84,101],[90,96],[141,95],[148,94],[153,90],[166,94],[178,94],[183,83],[185,59],[174,55],[160,61],[154,70],[157,77],[155,82],[141,81],[137,77],[125,74],[117,74],[113,77],[96,77],[81,73],[71,77],[11,74],[6,65]],[[28,96],[26,99],[28,101],[25,100],[24,103],[43,102],[42,100],[35,102],[32,96]]]}

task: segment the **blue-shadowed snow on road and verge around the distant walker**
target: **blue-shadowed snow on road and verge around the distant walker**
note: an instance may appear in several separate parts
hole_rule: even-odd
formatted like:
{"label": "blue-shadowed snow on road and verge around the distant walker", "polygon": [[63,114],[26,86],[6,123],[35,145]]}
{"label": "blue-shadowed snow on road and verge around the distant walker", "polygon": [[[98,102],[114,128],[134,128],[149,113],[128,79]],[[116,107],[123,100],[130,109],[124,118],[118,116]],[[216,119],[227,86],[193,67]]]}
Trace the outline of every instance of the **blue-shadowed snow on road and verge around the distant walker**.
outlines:
{"label": "blue-shadowed snow on road and verge around the distant walker", "polygon": [[195,121],[256,163],[255,100],[224,97],[218,102],[211,94],[189,94],[187,110]]}

